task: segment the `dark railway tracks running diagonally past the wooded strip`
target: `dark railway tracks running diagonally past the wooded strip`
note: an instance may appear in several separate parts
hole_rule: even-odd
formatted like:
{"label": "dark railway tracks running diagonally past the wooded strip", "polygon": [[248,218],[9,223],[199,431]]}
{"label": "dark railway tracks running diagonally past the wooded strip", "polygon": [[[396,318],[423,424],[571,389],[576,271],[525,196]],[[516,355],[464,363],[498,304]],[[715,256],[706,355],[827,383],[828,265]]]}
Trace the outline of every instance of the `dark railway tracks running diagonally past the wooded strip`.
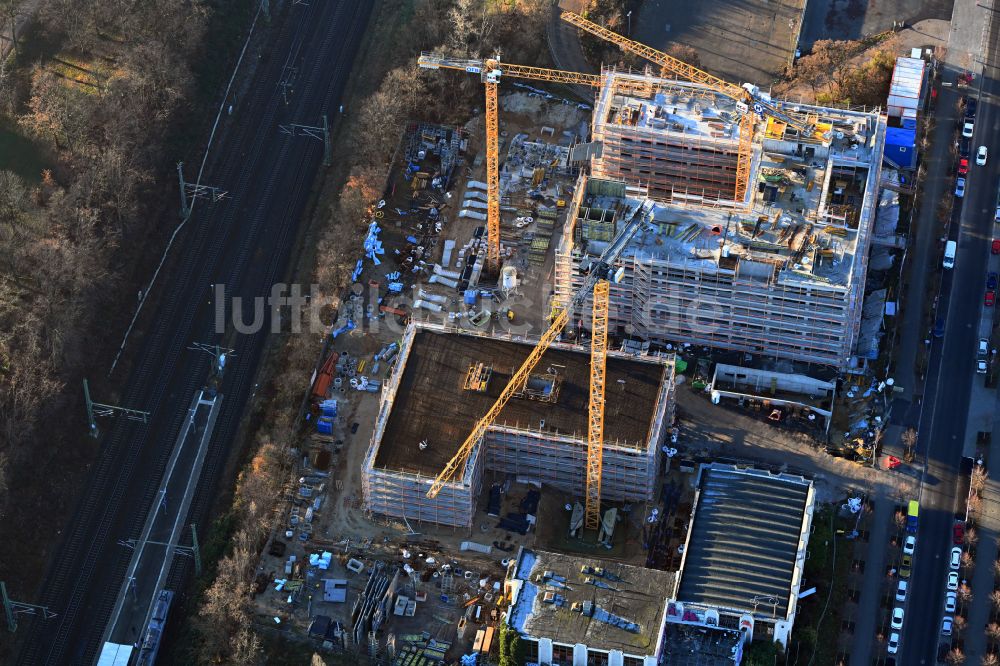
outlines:
{"label": "dark railway tracks running diagonally past the wooded strip", "polygon": [[[58,617],[22,622],[19,664],[95,658],[130,556],[117,542],[139,536],[191,397],[207,376],[210,359],[188,350],[193,342],[236,350],[188,522],[206,519],[268,330],[238,335],[230,324],[217,334],[211,285],[224,284],[227,296],[253,303],[284,276],[322,144],[282,134],[278,125],[319,125],[323,113],[336,113],[371,3],[328,0],[287,3],[286,9],[274,19],[271,44],[203,179],[229,196],[196,209],[175,250],[180,260],[160,287],[155,325],[141,343],[133,342],[141,350],[122,403],[149,410],[151,421],[103,424],[101,456],[37,600]],[[278,83],[290,68],[297,74],[286,104]],[[175,567],[171,582],[183,580],[183,567]]]}

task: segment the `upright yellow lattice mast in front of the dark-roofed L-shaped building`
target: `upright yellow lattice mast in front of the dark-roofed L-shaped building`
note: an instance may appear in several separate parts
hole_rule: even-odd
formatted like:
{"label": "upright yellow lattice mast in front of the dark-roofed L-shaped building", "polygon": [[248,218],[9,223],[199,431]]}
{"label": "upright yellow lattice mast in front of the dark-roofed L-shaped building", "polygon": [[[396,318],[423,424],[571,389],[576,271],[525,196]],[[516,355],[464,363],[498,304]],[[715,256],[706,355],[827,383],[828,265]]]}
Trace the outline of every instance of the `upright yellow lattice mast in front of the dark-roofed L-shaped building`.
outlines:
{"label": "upright yellow lattice mast in front of the dark-roofed L-shaped building", "polygon": [[583,525],[596,530],[601,524],[601,471],[604,467],[604,371],[608,356],[608,306],[611,283],[594,285],[590,327],[590,406],[587,427],[587,494]]}

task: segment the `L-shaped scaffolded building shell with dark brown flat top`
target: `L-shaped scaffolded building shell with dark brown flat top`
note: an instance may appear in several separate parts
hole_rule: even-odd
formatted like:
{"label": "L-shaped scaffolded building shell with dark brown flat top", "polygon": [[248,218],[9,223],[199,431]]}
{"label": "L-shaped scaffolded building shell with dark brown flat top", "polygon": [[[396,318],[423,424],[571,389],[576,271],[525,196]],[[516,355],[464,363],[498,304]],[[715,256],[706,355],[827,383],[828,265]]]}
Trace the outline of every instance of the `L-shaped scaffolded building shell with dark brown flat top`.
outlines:
{"label": "L-shaped scaffolded building shell with dark brown flat top", "polygon": [[[521,393],[500,412],[464,468],[436,497],[427,492],[486,413],[533,340],[427,324],[407,328],[382,393],[365,457],[371,513],[456,527],[472,525],[484,470],[579,496],[587,470],[589,349],[553,344]],[[659,451],[673,418],[672,357],[607,355],[602,497],[653,495]]]}

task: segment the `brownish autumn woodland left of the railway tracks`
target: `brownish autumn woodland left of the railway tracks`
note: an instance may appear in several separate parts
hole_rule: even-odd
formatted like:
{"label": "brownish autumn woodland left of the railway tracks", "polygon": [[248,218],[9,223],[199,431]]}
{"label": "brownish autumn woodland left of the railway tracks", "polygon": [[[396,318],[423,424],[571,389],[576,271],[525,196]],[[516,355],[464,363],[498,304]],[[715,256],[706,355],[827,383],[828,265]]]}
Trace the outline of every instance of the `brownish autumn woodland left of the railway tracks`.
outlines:
{"label": "brownish autumn woodland left of the railway tracks", "polygon": [[0,573],[21,597],[57,534],[36,521],[62,524],[96,453],[80,380],[103,376],[148,275],[210,17],[208,0],[42,0],[0,63],[0,131],[48,167],[0,169],[0,518],[20,535]]}

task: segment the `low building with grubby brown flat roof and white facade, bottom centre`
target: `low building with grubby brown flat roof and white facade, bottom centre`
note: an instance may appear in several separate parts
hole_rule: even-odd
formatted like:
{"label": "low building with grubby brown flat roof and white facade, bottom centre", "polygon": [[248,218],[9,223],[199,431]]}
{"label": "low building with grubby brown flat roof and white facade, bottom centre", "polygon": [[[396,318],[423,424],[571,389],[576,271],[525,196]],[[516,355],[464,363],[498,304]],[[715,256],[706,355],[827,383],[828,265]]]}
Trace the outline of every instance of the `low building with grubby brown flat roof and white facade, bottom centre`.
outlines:
{"label": "low building with grubby brown flat roof and white facade, bottom centre", "polygon": [[655,666],[674,573],[522,549],[507,580],[507,624],[527,639],[527,661]]}

